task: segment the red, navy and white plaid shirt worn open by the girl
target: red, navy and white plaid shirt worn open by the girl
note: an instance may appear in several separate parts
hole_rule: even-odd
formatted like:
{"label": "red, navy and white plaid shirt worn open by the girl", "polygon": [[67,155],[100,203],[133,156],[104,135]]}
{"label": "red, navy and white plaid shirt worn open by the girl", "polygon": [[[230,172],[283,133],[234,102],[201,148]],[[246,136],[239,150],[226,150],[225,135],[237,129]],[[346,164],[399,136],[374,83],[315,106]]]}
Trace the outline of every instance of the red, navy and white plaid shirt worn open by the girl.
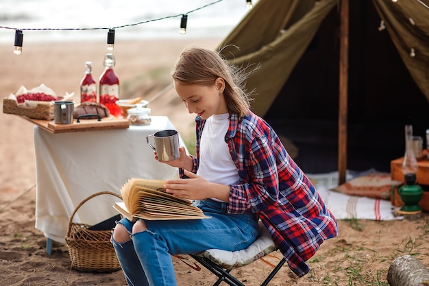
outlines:
{"label": "red, navy and white plaid shirt worn open by the girl", "polygon": [[[201,117],[195,121],[194,173],[206,122]],[[232,115],[225,142],[241,178],[240,184],[230,186],[228,212],[258,213],[291,270],[297,276],[304,276],[310,271],[305,261],[324,240],[338,235],[334,216],[263,119],[252,112],[241,121]],[[186,178],[183,170],[180,175]]]}

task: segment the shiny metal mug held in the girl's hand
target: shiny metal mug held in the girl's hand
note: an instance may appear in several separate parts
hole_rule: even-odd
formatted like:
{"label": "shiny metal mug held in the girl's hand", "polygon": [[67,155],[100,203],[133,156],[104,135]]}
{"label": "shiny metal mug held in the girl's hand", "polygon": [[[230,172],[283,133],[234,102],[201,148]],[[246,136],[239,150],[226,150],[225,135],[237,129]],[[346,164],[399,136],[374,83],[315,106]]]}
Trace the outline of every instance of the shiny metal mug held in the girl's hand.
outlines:
{"label": "shiny metal mug held in the girl's hand", "polygon": [[[151,137],[154,137],[155,146],[149,142]],[[156,151],[158,161],[160,162],[167,162],[180,157],[179,132],[176,130],[161,130],[147,135],[146,141]]]}

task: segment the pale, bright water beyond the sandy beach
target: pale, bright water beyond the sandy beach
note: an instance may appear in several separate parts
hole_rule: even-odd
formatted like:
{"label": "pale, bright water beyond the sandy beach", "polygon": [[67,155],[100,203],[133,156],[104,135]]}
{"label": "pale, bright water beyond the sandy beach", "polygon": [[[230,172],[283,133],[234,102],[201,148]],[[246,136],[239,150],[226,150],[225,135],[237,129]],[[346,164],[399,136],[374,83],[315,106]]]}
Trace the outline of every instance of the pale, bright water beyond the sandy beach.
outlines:
{"label": "pale, bright water beyond the sandy beach", "polygon": [[[0,26],[23,29],[24,43],[106,39],[112,27],[120,27],[115,40],[178,38],[181,15],[188,14],[185,36],[223,38],[247,12],[244,0],[1,0]],[[13,45],[14,33],[0,28],[0,43]]]}

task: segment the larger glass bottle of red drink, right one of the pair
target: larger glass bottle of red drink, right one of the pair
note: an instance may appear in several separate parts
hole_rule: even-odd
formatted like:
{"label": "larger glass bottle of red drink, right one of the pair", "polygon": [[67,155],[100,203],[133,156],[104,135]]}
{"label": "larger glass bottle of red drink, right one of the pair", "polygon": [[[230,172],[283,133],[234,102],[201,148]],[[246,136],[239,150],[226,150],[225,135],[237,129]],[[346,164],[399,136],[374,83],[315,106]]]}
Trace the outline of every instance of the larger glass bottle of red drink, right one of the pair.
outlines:
{"label": "larger glass bottle of red drink, right one of the pair", "polygon": [[104,71],[99,81],[99,102],[106,106],[114,117],[121,116],[121,110],[116,104],[119,100],[119,79],[113,71],[114,56],[107,53],[104,57]]}

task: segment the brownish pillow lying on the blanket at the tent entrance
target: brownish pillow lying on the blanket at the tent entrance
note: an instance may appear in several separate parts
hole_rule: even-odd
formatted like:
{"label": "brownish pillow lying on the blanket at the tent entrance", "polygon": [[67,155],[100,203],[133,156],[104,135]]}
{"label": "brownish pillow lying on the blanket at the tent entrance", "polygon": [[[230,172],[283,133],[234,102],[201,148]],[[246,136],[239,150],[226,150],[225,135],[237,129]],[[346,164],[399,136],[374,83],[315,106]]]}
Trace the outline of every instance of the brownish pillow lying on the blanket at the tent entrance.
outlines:
{"label": "brownish pillow lying on the blanket at the tent entrance", "polygon": [[402,182],[392,180],[389,173],[376,172],[354,178],[331,190],[347,195],[389,200],[392,188],[400,186],[400,184]]}

